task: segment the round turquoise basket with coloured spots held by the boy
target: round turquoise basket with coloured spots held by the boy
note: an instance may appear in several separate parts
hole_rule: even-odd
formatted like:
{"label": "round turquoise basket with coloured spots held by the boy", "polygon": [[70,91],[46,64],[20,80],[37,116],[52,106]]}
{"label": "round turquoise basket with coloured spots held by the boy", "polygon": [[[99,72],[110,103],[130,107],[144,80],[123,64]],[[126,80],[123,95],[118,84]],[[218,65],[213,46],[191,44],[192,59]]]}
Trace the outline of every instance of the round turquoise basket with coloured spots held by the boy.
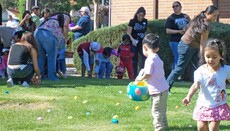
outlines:
{"label": "round turquoise basket with coloured spots held by the boy", "polygon": [[134,101],[146,101],[150,98],[147,83],[145,81],[130,82],[127,87],[129,99]]}

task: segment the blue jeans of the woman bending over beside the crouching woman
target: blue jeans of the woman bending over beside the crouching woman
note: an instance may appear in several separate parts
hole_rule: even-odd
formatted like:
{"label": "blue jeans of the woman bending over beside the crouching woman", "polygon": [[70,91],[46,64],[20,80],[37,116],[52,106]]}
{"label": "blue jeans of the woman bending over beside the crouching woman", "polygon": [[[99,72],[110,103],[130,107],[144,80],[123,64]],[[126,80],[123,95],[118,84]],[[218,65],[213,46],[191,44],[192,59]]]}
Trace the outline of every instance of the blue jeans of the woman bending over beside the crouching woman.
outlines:
{"label": "blue jeans of the woman bending over beside the crouching woman", "polygon": [[57,81],[56,75],[56,58],[58,40],[48,30],[38,29],[34,33],[38,44],[38,66],[42,75],[44,75],[44,65],[47,57],[48,78],[49,80]]}

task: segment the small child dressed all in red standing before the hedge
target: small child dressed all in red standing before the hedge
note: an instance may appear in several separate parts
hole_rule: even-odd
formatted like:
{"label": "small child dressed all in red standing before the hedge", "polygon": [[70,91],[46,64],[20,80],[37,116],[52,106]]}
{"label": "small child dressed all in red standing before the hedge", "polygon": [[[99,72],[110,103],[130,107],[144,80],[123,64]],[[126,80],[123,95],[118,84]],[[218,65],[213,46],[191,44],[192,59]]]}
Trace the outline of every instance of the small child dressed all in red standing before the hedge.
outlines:
{"label": "small child dressed all in red standing before the hedge", "polygon": [[124,68],[128,70],[129,79],[134,79],[133,72],[133,56],[132,41],[128,34],[122,36],[122,43],[118,47],[118,56],[120,57],[119,67],[116,68],[117,78],[122,79],[124,75]]}

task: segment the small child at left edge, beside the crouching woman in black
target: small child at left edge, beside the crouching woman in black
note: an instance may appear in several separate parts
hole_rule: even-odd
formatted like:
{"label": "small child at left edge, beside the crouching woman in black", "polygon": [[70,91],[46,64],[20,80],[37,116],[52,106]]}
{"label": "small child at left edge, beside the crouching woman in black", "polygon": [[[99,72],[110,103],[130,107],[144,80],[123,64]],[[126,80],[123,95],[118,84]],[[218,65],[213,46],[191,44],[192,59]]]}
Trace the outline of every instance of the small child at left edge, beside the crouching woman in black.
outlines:
{"label": "small child at left edge, beside the crouching woman in black", "polygon": [[9,49],[3,48],[2,53],[3,55],[0,56],[0,76],[2,79],[5,79]]}

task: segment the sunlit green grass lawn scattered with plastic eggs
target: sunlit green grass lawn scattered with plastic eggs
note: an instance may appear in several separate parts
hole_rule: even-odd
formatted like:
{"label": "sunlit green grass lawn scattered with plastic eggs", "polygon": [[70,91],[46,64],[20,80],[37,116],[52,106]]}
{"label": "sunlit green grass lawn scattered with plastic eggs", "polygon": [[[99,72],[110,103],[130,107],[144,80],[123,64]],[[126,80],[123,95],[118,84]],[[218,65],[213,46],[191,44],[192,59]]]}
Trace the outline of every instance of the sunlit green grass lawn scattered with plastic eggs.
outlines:
{"label": "sunlit green grass lawn scattered with plastic eggs", "polygon": [[[58,83],[43,81],[40,87],[7,88],[1,80],[0,131],[152,131],[151,101],[131,101],[126,95],[129,82],[69,77]],[[170,131],[196,130],[192,112],[197,95],[190,106],[181,103],[190,85],[174,84],[168,98]],[[138,105],[140,110],[135,110]],[[111,122],[114,115],[118,124]],[[229,131],[230,122],[221,122],[220,130]]]}

